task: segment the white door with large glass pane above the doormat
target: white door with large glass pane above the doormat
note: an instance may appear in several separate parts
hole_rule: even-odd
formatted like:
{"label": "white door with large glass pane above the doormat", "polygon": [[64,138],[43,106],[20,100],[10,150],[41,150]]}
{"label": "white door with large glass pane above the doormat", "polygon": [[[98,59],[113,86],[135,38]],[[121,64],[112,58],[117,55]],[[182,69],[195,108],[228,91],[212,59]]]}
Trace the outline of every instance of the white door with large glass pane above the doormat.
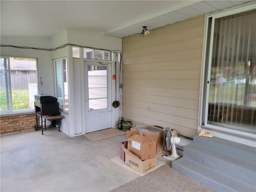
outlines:
{"label": "white door with large glass pane above the doormat", "polygon": [[85,132],[111,128],[111,66],[85,61]]}

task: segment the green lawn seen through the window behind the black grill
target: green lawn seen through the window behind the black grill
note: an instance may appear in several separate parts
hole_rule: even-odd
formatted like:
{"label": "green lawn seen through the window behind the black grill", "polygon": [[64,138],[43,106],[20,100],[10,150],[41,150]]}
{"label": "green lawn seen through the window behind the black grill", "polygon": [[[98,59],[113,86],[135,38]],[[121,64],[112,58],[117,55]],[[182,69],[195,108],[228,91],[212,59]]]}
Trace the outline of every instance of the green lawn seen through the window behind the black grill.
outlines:
{"label": "green lawn seen through the window behind the black grill", "polygon": [[[13,110],[29,109],[29,92],[26,89],[12,90]],[[7,110],[6,91],[0,90],[0,110]]]}

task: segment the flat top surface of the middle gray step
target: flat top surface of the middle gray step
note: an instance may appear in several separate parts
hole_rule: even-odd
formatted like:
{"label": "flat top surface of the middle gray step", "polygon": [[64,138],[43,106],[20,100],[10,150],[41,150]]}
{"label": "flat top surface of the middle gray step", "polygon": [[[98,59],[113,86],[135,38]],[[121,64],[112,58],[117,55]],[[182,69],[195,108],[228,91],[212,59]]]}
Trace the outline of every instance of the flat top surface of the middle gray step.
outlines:
{"label": "flat top surface of the middle gray step", "polygon": [[233,164],[234,166],[241,167],[250,172],[254,172],[254,173],[256,172],[256,162],[248,161],[239,156],[226,154],[219,150],[205,147],[196,143],[192,143],[185,147],[184,156],[186,156],[186,150],[192,150],[195,153],[203,154],[204,156],[211,156],[214,159],[220,160],[222,162],[227,162],[228,164]]}

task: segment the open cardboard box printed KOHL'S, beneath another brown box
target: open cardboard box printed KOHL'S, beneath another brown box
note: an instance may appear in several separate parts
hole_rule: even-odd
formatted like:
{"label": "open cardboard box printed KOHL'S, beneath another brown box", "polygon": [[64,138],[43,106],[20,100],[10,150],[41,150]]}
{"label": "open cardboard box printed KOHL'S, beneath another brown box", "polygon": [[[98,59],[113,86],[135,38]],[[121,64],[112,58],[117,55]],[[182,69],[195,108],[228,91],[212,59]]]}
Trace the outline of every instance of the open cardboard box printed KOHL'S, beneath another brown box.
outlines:
{"label": "open cardboard box printed KOHL'S, beneath another brown box", "polygon": [[132,154],[126,148],[123,148],[123,150],[125,152],[126,166],[130,167],[136,172],[144,174],[149,170],[156,168],[156,157],[142,161],[138,156]]}

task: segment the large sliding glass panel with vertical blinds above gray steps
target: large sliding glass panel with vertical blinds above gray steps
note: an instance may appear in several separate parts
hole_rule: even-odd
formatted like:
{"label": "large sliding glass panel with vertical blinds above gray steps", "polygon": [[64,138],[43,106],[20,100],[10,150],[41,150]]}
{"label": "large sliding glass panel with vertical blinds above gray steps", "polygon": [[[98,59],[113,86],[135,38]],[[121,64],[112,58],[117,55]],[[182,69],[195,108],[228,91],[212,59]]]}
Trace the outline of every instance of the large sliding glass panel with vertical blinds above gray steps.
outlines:
{"label": "large sliding glass panel with vertical blinds above gray steps", "polygon": [[204,125],[256,133],[256,10],[209,18]]}

